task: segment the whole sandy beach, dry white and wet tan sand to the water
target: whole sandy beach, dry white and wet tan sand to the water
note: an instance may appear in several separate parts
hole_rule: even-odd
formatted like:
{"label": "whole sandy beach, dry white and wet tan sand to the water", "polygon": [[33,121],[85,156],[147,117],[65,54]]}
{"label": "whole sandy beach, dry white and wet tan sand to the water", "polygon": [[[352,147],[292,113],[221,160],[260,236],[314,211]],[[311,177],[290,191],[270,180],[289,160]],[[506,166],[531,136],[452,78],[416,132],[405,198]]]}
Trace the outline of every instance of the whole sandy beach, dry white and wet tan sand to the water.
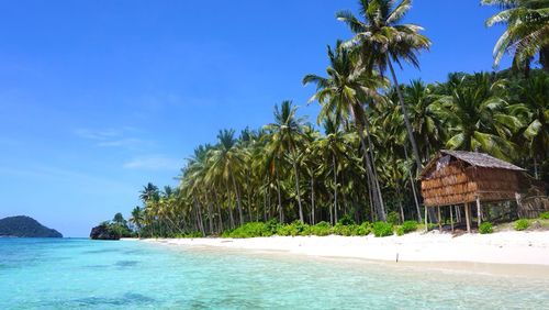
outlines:
{"label": "whole sandy beach, dry white and wet tan sand to the water", "polygon": [[270,236],[145,239],[142,242],[227,253],[299,255],[474,274],[549,277],[549,231],[493,234],[411,233],[403,236]]}

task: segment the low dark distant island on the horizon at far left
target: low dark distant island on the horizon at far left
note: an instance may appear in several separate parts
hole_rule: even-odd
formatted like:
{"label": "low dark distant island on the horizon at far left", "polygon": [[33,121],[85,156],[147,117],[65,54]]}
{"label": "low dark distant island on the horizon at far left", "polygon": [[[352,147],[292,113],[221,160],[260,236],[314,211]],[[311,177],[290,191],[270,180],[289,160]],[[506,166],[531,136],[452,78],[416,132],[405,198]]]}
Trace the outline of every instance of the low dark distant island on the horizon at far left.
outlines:
{"label": "low dark distant island on the horizon at far left", "polygon": [[56,230],[48,229],[25,215],[9,217],[0,220],[0,237],[63,237]]}

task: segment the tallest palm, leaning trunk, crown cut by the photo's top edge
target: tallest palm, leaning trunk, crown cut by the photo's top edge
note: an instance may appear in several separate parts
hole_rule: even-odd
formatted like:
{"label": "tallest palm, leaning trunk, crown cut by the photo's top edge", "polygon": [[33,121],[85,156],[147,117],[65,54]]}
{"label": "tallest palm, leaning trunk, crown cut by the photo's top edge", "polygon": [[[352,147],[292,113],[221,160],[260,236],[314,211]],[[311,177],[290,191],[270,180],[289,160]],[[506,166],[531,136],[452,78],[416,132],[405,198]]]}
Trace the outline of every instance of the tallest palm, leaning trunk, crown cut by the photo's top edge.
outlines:
{"label": "tallest palm, leaning trunk, crown cut by the photo's top edge", "polygon": [[378,68],[383,74],[389,67],[393,84],[399,95],[404,123],[414,152],[417,169],[422,168],[422,157],[414,139],[404,97],[396,79],[392,63],[402,67],[402,60],[419,67],[417,54],[421,49],[428,49],[430,41],[419,34],[423,29],[415,24],[400,24],[404,15],[412,8],[412,0],[402,0],[395,4],[393,0],[360,0],[360,14],[363,21],[357,19],[350,11],[336,14],[339,21],[345,22],[355,36],[347,42],[348,46],[361,51],[361,65],[366,68]]}

